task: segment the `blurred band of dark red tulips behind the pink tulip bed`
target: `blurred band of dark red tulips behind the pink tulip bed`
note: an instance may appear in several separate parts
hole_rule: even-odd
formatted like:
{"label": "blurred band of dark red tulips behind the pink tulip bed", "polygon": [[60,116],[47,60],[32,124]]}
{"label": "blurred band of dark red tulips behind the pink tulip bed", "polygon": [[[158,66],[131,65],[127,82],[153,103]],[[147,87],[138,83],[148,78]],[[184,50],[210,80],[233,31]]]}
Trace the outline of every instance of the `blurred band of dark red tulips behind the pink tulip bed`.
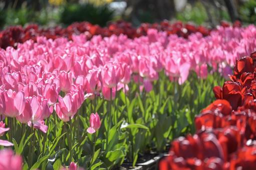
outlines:
{"label": "blurred band of dark red tulips behind the pink tulip bed", "polygon": [[[227,23],[223,22],[224,26]],[[234,24],[239,26],[239,24]],[[0,32],[0,47],[7,46],[17,47],[17,43],[23,43],[26,40],[33,39],[36,41],[37,36],[46,36],[48,39],[56,39],[58,37],[67,37],[72,40],[73,34],[86,33],[86,38],[90,39],[93,35],[101,35],[102,37],[111,36],[113,34],[125,34],[129,38],[135,38],[146,35],[149,28],[155,28],[159,31],[166,31],[168,34],[177,34],[179,36],[187,37],[191,33],[200,32],[204,36],[208,35],[210,30],[204,26],[195,26],[192,24],[183,24],[177,21],[170,24],[168,21],[161,23],[143,23],[138,28],[133,27],[131,23],[125,21],[111,22],[107,27],[100,27],[89,22],[75,22],[67,28],[56,26],[53,28],[41,28],[37,24],[29,24],[26,27],[11,26]]]}

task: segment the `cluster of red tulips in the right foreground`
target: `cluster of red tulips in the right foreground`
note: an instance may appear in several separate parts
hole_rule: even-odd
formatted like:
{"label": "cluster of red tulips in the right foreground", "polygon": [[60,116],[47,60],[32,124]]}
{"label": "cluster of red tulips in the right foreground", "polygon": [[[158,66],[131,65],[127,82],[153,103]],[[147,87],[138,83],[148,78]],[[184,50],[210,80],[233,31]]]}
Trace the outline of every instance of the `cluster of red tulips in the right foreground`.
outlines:
{"label": "cluster of red tulips in the right foreground", "polygon": [[236,61],[217,98],[195,118],[196,134],[172,142],[160,169],[254,169],[256,52]]}

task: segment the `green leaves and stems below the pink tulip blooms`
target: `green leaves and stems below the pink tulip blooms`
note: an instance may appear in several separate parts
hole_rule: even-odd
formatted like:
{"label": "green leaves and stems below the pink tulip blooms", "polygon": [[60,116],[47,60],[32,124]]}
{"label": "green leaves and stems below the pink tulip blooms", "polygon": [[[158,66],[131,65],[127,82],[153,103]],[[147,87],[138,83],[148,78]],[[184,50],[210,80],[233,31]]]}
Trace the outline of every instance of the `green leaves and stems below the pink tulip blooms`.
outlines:
{"label": "green leaves and stems below the pink tulip blooms", "polygon": [[[201,79],[191,72],[181,85],[163,71],[159,77],[150,92],[139,91],[132,82],[129,92],[118,91],[112,102],[100,96],[86,99],[71,122],[63,122],[53,112],[45,122],[47,133],[10,119],[15,120],[8,124],[13,140],[9,132],[3,139],[12,141],[16,153],[23,155],[24,169],[59,169],[71,160],[85,169],[113,169],[125,159],[135,165],[139,154],[164,151],[170,140],[193,133],[195,115],[214,100],[213,86],[224,81],[218,73]],[[89,134],[90,113],[96,111],[101,127]]]}

